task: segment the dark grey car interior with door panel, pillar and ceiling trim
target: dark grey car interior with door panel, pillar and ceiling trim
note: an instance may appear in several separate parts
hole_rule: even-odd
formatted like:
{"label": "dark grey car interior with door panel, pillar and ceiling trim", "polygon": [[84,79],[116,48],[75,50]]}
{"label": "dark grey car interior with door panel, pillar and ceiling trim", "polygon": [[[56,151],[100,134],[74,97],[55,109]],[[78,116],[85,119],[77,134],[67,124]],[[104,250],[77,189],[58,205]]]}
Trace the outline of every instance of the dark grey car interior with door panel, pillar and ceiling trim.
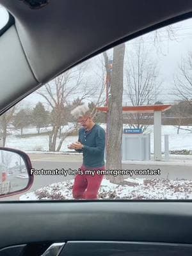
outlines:
{"label": "dark grey car interior with door panel, pillar and ceiling trim", "polygon": [[[0,4],[10,15],[0,31],[1,115],[69,68],[192,17],[190,0],[0,0]],[[29,172],[30,160],[25,154],[22,159]],[[30,177],[28,189],[33,183]],[[191,253],[191,200],[0,202],[0,256]]]}

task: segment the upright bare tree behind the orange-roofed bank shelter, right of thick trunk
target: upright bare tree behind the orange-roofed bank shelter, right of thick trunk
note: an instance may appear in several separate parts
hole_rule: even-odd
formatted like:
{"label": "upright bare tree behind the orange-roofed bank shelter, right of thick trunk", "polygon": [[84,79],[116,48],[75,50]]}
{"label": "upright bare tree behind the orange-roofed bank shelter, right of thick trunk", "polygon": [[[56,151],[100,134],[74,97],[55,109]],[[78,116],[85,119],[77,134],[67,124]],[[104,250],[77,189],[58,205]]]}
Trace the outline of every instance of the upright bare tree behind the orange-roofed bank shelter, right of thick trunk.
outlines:
{"label": "upright bare tree behind the orange-roofed bank shelter, right of thick trunk", "polygon": [[[157,64],[150,58],[150,52],[145,49],[145,44],[140,37],[138,44],[132,52],[127,54],[125,61],[125,93],[132,106],[154,104],[156,95],[160,92],[161,83],[157,81]],[[130,127],[141,128],[143,131],[148,125],[142,120],[150,120],[146,113],[125,114]]]}

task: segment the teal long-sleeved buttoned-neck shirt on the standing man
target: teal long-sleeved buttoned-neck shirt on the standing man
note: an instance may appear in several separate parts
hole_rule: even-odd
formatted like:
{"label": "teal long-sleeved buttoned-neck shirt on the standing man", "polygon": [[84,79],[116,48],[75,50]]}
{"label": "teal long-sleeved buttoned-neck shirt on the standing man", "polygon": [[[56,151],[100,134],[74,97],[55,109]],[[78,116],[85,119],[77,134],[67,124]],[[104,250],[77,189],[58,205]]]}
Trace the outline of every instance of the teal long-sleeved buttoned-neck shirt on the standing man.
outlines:
{"label": "teal long-sleeved buttoned-neck shirt on the standing man", "polygon": [[100,125],[95,124],[88,134],[84,128],[79,129],[78,141],[84,145],[82,149],[76,150],[83,152],[83,165],[88,168],[100,168],[104,166],[104,149],[106,143],[106,132]]}

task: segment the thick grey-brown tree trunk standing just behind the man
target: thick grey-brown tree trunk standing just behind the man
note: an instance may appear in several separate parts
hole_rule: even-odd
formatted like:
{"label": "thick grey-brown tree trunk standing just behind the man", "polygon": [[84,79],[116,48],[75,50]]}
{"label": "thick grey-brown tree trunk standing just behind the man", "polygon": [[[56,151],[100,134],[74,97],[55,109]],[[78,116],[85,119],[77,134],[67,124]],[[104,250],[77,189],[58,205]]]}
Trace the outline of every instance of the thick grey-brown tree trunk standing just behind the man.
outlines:
{"label": "thick grey-brown tree trunk standing just behind the man", "polygon": [[[122,170],[122,95],[124,91],[125,44],[118,45],[113,51],[113,72],[111,77],[111,97],[108,111],[107,170]],[[120,184],[124,177],[109,177],[111,182]]]}

